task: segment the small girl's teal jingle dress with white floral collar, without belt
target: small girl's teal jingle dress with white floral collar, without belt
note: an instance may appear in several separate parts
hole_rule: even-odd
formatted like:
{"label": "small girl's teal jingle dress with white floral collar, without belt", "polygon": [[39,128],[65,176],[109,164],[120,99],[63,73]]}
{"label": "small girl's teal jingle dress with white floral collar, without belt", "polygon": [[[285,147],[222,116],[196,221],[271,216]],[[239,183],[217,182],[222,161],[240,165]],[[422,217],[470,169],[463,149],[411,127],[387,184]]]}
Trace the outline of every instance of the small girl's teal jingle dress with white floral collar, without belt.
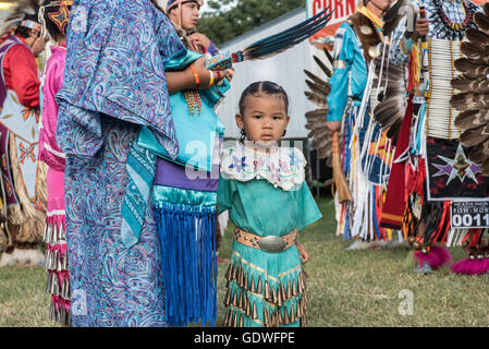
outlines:
{"label": "small girl's teal jingle dress with white floral collar, without belt", "polygon": [[[224,151],[218,190],[218,212],[229,209],[231,221],[258,234],[284,236],[321,218],[304,181],[304,155],[296,148],[270,153],[239,145]],[[227,326],[305,325],[305,274],[296,245],[280,253],[233,241],[225,275]]]}

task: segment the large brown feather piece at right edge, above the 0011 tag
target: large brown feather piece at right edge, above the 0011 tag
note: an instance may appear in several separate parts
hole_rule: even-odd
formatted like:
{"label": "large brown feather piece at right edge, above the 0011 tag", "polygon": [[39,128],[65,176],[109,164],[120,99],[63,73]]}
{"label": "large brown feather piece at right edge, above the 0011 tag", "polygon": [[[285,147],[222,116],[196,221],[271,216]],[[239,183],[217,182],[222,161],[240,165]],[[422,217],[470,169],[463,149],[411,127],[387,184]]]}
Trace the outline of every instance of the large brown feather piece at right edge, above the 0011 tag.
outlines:
{"label": "large brown feather piece at right edge, above the 0011 tag", "polygon": [[477,29],[465,32],[468,41],[461,45],[465,57],[454,62],[462,74],[452,80],[459,93],[451,104],[461,111],[455,118],[461,143],[473,147],[468,158],[481,164],[482,174],[489,176],[489,3],[484,3],[482,9],[474,14]]}

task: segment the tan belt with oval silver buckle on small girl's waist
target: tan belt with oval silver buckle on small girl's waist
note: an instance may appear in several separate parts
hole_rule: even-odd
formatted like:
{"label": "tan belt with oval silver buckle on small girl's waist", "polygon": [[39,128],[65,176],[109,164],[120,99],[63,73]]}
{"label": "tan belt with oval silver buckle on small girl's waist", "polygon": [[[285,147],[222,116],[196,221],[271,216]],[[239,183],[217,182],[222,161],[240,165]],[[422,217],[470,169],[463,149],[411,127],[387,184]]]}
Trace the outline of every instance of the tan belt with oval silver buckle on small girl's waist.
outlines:
{"label": "tan belt with oval silver buckle on small girl's waist", "polygon": [[234,229],[234,239],[249,248],[262,250],[268,253],[280,253],[295,244],[297,241],[297,229],[282,237],[260,237],[236,228]]}

